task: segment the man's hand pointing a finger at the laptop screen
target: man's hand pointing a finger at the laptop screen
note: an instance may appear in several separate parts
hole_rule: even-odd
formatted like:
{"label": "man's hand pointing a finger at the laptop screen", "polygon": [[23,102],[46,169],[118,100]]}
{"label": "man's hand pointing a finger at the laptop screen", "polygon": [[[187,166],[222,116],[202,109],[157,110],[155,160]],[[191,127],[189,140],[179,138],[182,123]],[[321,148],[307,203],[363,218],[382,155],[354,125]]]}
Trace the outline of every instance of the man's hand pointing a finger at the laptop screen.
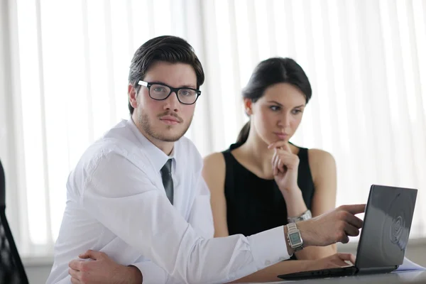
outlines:
{"label": "man's hand pointing a finger at the laptop screen", "polygon": [[342,205],[313,219],[297,222],[305,246],[346,244],[349,236],[358,236],[363,221],[355,216],[364,212],[365,204]]}

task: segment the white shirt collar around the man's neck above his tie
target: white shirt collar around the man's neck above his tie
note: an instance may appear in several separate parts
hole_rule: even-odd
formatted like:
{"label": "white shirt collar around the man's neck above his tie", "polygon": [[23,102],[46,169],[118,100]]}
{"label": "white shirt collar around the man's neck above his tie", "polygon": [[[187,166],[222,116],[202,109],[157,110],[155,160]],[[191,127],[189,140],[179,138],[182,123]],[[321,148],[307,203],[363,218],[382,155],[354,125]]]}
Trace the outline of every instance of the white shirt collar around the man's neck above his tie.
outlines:
{"label": "white shirt collar around the man's neck above his tie", "polygon": [[156,172],[159,172],[161,168],[163,168],[165,162],[167,162],[170,158],[173,159],[176,163],[175,146],[173,147],[172,153],[170,153],[170,155],[166,155],[163,151],[160,150],[160,148],[149,141],[148,138],[143,136],[131,117],[127,121],[127,124],[129,125],[131,131],[133,131],[135,134],[136,138],[138,138],[138,141],[141,143],[141,146],[146,152],[146,155],[151,161],[151,164],[153,165]]}

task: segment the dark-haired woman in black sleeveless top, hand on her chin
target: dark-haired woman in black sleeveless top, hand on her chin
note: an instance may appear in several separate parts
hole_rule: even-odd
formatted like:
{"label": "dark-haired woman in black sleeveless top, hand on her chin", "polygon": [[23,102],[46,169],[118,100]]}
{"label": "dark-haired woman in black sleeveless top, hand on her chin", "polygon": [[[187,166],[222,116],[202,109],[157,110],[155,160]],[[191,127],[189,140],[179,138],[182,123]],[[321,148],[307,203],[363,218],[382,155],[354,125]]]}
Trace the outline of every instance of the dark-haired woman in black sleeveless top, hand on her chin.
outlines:
{"label": "dark-haired woman in black sleeveless top, hand on her chin", "polygon": [[[214,236],[249,236],[329,211],[336,202],[332,155],[290,143],[312,96],[302,67],[290,58],[260,62],[242,92],[250,121],[235,144],[204,158],[211,191]],[[335,246],[311,247],[242,282],[277,280],[283,273],[345,266]]]}

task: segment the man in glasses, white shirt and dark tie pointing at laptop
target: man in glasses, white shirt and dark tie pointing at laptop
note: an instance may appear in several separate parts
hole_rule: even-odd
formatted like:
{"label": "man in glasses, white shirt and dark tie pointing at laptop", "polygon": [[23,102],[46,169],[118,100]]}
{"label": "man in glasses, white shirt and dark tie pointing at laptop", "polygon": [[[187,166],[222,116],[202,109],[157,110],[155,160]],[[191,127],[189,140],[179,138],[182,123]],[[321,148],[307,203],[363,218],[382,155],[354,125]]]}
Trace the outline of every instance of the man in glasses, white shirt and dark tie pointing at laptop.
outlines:
{"label": "man in glasses, white shirt and dark tie pointing at laptop", "polygon": [[[153,38],[136,51],[131,119],[90,146],[70,174],[48,283],[224,283],[289,258],[302,249],[300,236],[304,246],[327,246],[359,234],[362,204],[298,222],[293,244],[287,226],[212,239],[202,158],[182,137],[203,82],[181,38]],[[82,251],[94,261],[72,261]]]}

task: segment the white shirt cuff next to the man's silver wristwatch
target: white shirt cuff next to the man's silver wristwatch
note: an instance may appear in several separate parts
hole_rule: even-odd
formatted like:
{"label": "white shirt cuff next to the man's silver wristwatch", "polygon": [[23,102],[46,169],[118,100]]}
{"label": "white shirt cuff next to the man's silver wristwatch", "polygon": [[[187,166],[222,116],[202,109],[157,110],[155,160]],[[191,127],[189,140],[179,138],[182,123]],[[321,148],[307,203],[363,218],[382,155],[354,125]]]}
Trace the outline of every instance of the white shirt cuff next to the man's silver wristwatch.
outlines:
{"label": "white shirt cuff next to the man's silver wristwatch", "polygon": [[248,237],[256,268],[261,270],[290,258],[285,243],[284,226]]}

